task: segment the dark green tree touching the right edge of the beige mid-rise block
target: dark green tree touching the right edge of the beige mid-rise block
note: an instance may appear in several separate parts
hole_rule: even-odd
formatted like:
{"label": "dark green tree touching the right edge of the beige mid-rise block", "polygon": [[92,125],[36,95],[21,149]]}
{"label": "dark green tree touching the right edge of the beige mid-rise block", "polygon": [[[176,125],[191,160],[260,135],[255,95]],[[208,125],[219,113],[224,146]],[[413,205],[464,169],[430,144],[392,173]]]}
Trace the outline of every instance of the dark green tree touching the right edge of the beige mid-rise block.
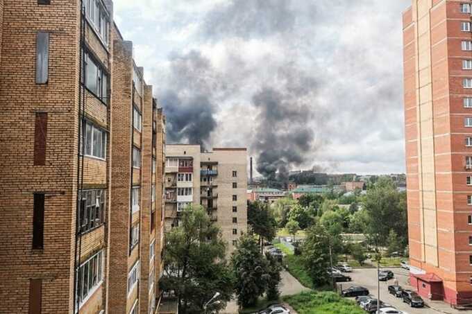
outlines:
{"label": "dark green tree touching the right edge of the beige mid-rise block", "polygon": [[276,236],[277,223],[267,204],[255,201],[248,206],[248,225],[259,236],[260,250],[264,239],[272,241]]}

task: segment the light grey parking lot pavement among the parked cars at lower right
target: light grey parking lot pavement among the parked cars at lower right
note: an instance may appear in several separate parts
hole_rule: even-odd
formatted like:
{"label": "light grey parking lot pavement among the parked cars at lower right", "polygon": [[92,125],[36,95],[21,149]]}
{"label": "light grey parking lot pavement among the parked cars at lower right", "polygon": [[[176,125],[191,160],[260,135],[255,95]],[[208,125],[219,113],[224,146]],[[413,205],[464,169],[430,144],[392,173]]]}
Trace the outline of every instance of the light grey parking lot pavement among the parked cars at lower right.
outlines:
{"label": "light grey parking lot pavement among the parked cars at lower right", "polygon": [[[380,300],[391,306],[394,306],[400,311],[404,311],[405,313],[459,313],[455,311],[453,308],[449,308],[447,304],[441,302],[439,306],[444,307],[447,311],[436,311],[433,308],[423,307],[423,308],[411,308],[408,304],[402,302],[400,297],[394,297],[394,295],[390,295],[387,286],[393,285],[395,283],[395,279],[398,280],[398,284],[403,288],[410,288],[407,284],[407,280],[409,279],[409,275],[407,270],[403,270],[401,268],[385,268],[394,272],[394,279],[390,279],[389,281],[380,281]],[[346,289],[350,286],[362,286],[364,288],[369,289],[371,295],[377,298],[377,270],[375,268],[363,269],[357,268],[354,269],[353,272],[348,274],[351,276],[353,281],[351,282],[344,282],[340,283],[343,289]],[[427,300],[425,300],[427,301]],[[462,312],[464,313],[464,312]]]}

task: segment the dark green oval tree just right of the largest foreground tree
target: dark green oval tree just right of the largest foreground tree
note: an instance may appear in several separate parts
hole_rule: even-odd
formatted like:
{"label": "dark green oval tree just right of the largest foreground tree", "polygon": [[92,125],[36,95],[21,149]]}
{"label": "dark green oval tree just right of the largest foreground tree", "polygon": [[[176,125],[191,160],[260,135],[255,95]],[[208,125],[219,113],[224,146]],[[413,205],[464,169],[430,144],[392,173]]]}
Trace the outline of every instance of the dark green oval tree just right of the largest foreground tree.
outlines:
{"label": "dark green oval tree just right of the largest foreground tree", "polygon": [[239,238],[231,256],[235,276],[235,293],[239,306],[253,306],[264,294],[269,282],[267,260],[260,253],[258,243],[252,236]]}

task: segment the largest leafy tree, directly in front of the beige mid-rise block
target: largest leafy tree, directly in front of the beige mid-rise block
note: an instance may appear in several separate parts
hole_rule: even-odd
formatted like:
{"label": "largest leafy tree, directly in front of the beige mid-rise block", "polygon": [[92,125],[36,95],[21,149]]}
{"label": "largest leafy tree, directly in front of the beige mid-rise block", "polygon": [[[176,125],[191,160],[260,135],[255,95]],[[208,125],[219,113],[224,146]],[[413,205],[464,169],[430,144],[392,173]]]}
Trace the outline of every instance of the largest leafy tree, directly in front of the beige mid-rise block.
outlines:
{"label": "largest leafy tree, directly in front of the beige mid-rise block", "polygon": [[211,305],[218,311],[233,293],[221,230],[202,207],[186,207],[180,215],[179,226],[166,234],[160,287],[175,291],[179,313],[203,313],[205,302],[219,292],[219,302]]}

